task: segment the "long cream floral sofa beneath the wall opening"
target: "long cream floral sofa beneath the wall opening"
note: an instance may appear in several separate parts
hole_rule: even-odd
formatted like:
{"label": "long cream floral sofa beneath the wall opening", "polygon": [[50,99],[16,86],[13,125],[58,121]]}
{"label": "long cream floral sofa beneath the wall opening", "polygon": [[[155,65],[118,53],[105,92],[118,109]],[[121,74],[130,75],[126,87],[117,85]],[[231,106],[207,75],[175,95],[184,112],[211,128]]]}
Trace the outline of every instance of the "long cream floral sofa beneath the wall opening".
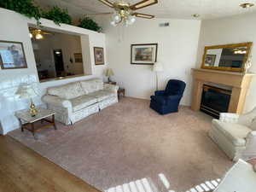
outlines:
{"label": "long cream floral sofa beneath the wall opening", "polygon": [[50,87],[42,100],[55,111],[56,120],[70,125],[118,102],[118,89],[102,79],[90,79]]}

